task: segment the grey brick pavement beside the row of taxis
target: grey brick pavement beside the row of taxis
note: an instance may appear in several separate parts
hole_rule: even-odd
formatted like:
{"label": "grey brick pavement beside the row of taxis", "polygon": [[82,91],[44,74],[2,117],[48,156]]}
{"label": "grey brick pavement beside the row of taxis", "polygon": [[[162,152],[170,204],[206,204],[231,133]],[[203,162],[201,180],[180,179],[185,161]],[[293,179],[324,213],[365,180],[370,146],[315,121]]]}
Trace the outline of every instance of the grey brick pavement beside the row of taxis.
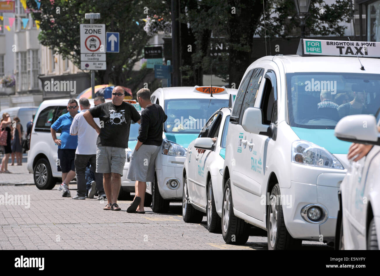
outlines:
{"label": "grey brick pavement beside the row of taxis", "polygon": [[[63,198],[57,187],[0,186],[0,195],[30,196],[30,208],[0,205],[0,249],[267,249],[262,230],[252,228],[247,244],[233,246],[221,234],[207,231],[206,217],[201,224],[185,223],[180,203],[171,203],[168,214],[152,213],[151,208],[146,214],[128,214],[130,201],[118,202],[122,211],[105,211],[105,203]],[[302,249],[331,248],[304,241]]]}

